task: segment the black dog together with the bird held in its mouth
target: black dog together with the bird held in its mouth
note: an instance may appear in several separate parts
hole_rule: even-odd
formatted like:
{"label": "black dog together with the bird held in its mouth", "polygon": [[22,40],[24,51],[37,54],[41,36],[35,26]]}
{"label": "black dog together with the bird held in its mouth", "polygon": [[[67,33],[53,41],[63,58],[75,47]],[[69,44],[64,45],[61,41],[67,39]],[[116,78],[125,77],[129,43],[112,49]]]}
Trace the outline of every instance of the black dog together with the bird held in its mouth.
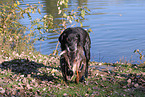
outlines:
{"label": "black dog together with the bird held in its mouth", "polygon": [[67,28],[59,37],[61,44],[60,66],[63,80],[67,83],[76,73],[76,82],[88,77],[91,40],[81,27]]}

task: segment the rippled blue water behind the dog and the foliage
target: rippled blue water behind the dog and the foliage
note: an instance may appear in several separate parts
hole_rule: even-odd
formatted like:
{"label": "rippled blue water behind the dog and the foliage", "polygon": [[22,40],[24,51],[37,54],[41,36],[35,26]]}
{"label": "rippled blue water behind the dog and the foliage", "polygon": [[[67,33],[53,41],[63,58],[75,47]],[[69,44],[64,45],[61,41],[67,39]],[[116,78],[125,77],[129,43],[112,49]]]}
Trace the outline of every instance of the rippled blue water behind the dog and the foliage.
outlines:
{"label": "rippled blue water behind the dog and the foliage", "polygon": [[[42,14],[34,14],[34,19],[46,14],[58,18],[57,0],[24,1],[25,4],[40,2],[44,5],[41,8]],[[21,6],[25,7],[25,4]],[[87,29],[93,30],[93,33],[90,33],[91,61],[139,61],[138,55],[133,52],[135,49],[145,48],[145,0],[69,0],[68,9],[80,5],[85,5],[91,10],[91,14],[83,21]],[[27,25],[28,19],[23,19],[22,23]],[[56,34],[49,33],[47,36],[52,39],[35,44],[36,50],[46,55],[53,52],[58,40]]]}

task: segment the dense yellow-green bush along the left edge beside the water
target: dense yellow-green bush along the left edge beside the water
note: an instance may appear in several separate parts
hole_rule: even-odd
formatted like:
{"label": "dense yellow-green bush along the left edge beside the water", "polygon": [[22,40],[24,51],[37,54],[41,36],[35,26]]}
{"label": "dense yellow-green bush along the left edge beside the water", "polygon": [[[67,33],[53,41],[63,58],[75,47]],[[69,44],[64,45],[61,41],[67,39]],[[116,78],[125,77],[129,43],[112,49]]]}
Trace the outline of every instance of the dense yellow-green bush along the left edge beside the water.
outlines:
{"label": "dense yellow-green bush along the left edge beside the water", "polygon": [[19,19],[24,18],[24,14],[30,18],[30,10],[35,11],[38,7],[22,9],[19,5],[19,1],[0,5],[0,54],[5,57],[9,57],[13,51],[20,54],[28,49],[33,50],[30,41],[32,33],[25,34],[28,28]]}

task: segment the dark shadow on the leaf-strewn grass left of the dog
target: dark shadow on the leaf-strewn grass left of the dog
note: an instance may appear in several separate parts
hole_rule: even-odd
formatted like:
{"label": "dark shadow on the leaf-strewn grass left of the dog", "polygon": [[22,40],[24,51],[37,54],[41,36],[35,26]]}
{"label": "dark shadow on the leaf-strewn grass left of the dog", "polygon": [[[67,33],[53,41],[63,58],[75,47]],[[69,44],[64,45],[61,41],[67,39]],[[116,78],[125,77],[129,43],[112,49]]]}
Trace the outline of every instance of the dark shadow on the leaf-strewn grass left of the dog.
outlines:
{"label": "dark shadow on the leaf-strewn grass left of the dog", "polygon": [[[52,67],[52,66],[45,66],[42,63],[37,63],[34,61],[30,61],[28,59],[14,59],[11,61],[4,61],[1,64],[0,68],[11,70],[17,75],[21,74],[24,75],[25,77],[27,77],[27,75],[30,74],[31,77],[40,79],[41,81],[54,81],[60,78],[59,76],[54,77],[50,73],[52,69],[59,70],[59,68]],[[42,68],[45,69],[45,72],[42,72],[44,70],[39,70]]]}

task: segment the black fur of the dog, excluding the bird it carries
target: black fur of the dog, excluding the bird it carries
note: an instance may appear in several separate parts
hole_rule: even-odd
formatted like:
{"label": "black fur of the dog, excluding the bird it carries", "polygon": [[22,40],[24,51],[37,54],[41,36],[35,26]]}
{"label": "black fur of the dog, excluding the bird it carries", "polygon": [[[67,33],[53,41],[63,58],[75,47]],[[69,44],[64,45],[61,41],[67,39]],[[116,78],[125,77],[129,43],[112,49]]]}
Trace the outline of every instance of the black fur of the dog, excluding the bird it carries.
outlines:
{"label": "black fur of the dog, excluding the bird it carries", "polygon": [[[90,37],[88,33],[81,27],[67,28],[63,31],[63,33],[59,37],[59,42],[61,43],[61,50],[67,50],[67,56],[69,57],[70,64],[73,65],[74,59],[76,57],[76,49],[77,46],[83,47],[84,54],[86,57],[86,69],[85,69],[85,77],[88,77],[88,62],[90,60]],[[67,75],[70,70],[68,69],[68,64],[64,58],[61,56],[60,65],[62,69],[63,78],[67,81]]]}

